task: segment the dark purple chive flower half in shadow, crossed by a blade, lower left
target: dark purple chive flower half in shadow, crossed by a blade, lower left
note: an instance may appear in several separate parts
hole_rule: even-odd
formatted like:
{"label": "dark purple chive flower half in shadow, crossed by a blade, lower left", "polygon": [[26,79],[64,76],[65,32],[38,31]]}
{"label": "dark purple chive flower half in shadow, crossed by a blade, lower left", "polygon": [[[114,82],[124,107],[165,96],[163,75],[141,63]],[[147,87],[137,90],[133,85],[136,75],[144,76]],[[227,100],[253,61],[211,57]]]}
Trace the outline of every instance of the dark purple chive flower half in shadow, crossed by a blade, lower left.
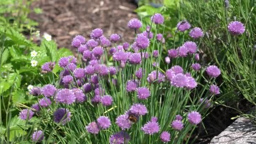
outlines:
{"label": "dark purple chive flower half in shadow, crossed by a blade, lower left", "polygon": [[53,117],[53,120],[56,123],[61,123],[62,125],[65,125],[67,122],[71,120],[71,112],[69,112],[68,109],[59,108],[53,113]]}

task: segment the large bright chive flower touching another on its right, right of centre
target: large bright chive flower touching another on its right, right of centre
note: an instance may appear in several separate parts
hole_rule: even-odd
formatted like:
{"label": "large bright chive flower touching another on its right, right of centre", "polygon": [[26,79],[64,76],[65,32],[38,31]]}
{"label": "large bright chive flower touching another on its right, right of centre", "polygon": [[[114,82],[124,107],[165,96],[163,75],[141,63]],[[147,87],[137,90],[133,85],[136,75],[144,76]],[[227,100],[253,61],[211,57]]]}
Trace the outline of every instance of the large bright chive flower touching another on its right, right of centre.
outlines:
{"label": "large bright chive flower touching another on its right, right of centre", "polygon": [[188,79],[184,74],[177,74],[171,79],[171,84],[175,87],[183,88],[188,85]]}

